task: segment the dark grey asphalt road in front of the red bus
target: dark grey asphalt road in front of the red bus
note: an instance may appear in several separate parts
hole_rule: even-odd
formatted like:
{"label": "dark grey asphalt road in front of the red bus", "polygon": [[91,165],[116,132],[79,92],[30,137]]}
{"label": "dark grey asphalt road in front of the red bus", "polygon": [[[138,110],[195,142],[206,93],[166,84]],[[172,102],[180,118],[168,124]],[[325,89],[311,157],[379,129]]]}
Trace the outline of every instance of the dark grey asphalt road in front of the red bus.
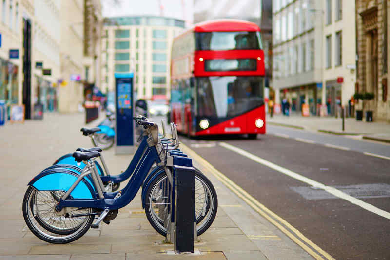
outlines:
{"label": "dark grey asphalt road in front of the red bus", "polygon": [[[293,136],[293,131],[288,129],[286,133],[284,130],[268,127],[269,134],[259,136],[257,140],[180,138],[335,259],[390,259],[390,220],[375,210],[364,208],[364,205],[372,205],[389,214],[390,160],[363,154],[389,156],[390,146],[304,131]],[[275,136],[275,133],[289,136]],[[305,181],[293,179],[267,164],[227,149],[229,145],[284,167],[286,171],[335,187],[347,196],[358,198],[358,204],[335,197],[324,189],[313,188]]]}

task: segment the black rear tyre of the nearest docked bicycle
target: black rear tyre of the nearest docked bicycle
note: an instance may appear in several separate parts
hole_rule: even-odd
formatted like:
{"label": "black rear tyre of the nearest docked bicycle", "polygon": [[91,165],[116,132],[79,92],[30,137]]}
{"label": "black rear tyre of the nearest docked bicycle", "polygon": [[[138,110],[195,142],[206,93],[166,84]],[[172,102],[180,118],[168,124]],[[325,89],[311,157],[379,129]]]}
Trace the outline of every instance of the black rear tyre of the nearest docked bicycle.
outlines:
{"label": "black rear tyre of the nearest docked bicycle", "polygon": [[[68,235],[59,235],[59,234],[50,234],[52,232],[46,230],[43,226],[41,226],[34,217],[34,209],[32,210],[30,207],[31,200],[34,197],[35,189],[31,186],[29,186],[26,190],[26,193],[24,194],[23,203],[22,203],[22,211],[23,211],[23,218],[26,222],[28,228],[31,230],[31,232],[37,236],[39,239],[53,243],[53,244],[65,244],[72,241],[75,241],[79,239],[81,236],[83,236],[88,229],[90,228],[92,221],[94,220],[94,216],[87,216],[85,221],[83,222],[83,225],[78,228],[75,232],[68,234]],[[92,212],[92,209],[90,209]],[[45,233],[48,232],[48,233]],[[58,237],[56,237],[58,236]]]}

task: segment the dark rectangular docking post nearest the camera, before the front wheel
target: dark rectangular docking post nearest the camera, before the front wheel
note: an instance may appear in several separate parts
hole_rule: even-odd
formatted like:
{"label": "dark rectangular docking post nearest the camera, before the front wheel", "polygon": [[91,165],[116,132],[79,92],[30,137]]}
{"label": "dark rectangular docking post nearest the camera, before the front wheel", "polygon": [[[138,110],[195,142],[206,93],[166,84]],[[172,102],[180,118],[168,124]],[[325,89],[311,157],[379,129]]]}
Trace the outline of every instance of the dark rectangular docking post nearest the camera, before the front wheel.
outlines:
{"label": "dark rectangular docking post nearest the camera, before the front wheel", "polygon": [[174,166],[175,176],[175,225],[174,249],[176,253],[194,253],[195,220],[195,169]]}

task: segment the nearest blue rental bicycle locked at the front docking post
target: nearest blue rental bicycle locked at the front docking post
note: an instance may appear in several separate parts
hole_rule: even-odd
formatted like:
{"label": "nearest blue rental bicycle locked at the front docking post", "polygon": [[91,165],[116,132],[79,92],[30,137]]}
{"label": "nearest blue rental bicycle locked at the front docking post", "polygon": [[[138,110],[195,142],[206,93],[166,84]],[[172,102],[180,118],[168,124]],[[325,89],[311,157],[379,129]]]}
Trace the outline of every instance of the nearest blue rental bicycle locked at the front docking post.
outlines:
{"label": "nearest blue rental bicycle locked at the front docking post", "polygon": [[[102,221],[108,224],[115,219],[118,209],[134,199],[142,183],[146,188],[143,205],[148,220],[152,226],[155,225],[156,230],[160,229],[159,233],[164,234],[165,229],[166,235],[166,227],[161,222],[166,218],[164,214],[172,199],[167,196],[172,189],[169,186],[171,182],[167,180],[172,180],[171,169],[174,165],[192,166],[192,160],[186,156],[172,155],[173,152],[168,154],[168,151],[178,148],[176,129],[173,133],[176,144],[175,147],[170,147],[159,141],[155,123],[139,119],[136,123],[145,128],[146,134],[141,137],[133,158],[137,164],[132,176],[121,191],[105,191],[94,164],[94,160],[100,156],[98,151],[73,153],[75,160],[86,165],[81,173],[73,165],[58,168],[51,166],[30,181],[23,199],[23,216],[27,226],[37,237],[51,243],[77,240],[90,227],[98,227]],[[154,163],[161,169],[150,177],[148,173]],[[198,175],[195,176],[195,182],[196,179],[200,183],[199,190],[203,190],[199,192],[203,199],[198,200],[201,210],[199,213],[195,212],[197,234],[200,235],[215,219],[217,197],[207,178]],[[95,216],[99,216],[98,220],[92,224]]]}

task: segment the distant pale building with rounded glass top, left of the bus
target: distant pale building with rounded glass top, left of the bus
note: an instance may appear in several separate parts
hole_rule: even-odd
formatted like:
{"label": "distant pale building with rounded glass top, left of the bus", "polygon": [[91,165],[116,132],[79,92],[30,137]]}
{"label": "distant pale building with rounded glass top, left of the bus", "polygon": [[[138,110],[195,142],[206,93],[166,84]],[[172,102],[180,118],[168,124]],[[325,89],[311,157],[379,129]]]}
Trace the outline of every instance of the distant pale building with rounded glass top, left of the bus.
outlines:
{"label": "distant pale building with rounded glass top, left of the bus", "polygon": [[115,73],[134,72],[137,98],[170,95],[173,39],[184,21],[154,16],[107,18],[102,39],[102,89],[113,91]]}

